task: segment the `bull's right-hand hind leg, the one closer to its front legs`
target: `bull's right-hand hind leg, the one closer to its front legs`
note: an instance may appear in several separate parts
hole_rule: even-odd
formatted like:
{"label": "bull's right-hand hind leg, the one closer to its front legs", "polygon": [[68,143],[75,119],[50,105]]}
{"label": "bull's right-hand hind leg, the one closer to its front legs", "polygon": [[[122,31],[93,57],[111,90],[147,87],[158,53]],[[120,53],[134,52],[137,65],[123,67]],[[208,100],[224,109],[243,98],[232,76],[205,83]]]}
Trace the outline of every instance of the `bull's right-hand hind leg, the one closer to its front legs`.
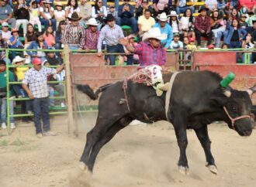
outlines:
{"label": "bull's right-hand hind leg, the one closer to its front legs", "polygon": [[106,145],[106,143],[109,142],[118,131],[125,128],[128,124],[130,124],[131,121],[133,121],[132,117],[121,118],[119,121],[113,124],[108,129],[108,131],[106,131],[106,133],[102,136],[102,138],[99,139],[99,141],[97,141],[97,143],[92,148],[90,158],[88,160],[88,170],[90,172],[92,172],[93,166],[95,164],[95,159],[103,145]]}

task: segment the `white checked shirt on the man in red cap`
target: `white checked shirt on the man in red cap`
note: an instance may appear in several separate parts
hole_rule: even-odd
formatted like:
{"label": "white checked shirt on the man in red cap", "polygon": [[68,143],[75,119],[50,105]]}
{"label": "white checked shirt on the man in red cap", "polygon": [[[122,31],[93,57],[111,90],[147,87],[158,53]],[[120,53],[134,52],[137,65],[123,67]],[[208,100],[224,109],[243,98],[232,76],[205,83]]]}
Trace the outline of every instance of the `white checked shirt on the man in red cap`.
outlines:
{"label": "white checked shirt on the man in red cap", "polygon": [[29,90],[33,93],[35,98],[44,98],[49,96],[49,89],[47,86],[47,76],[55,74],[56,70],[53,68],[42,67],[37,71],[31,68],[25,73],[22,83],[29,85]]}

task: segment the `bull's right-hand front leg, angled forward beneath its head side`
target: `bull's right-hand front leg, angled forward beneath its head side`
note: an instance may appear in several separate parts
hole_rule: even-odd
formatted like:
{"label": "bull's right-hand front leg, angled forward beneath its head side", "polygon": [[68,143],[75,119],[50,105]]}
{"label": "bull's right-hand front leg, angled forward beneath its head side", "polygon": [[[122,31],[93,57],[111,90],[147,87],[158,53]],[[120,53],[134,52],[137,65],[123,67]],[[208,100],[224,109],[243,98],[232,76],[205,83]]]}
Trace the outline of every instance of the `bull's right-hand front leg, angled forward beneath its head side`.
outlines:
{"label": "bull's right-hand front leg, angled forward beneath its head side", "polygon": [[206,167],[209,168],[210,172],[213,172],[214,174],[217,174],[217,168],[214,162],[214,158],[211,152],[211,141],[209,140],[209,135],[208,135],[208,128],[207,125],[199,128],[199,129],[195,129],[195,134],[197,136],[197,138],[199,138],[199,141],[202,145],[203,150],[205,151],[206,154]]}

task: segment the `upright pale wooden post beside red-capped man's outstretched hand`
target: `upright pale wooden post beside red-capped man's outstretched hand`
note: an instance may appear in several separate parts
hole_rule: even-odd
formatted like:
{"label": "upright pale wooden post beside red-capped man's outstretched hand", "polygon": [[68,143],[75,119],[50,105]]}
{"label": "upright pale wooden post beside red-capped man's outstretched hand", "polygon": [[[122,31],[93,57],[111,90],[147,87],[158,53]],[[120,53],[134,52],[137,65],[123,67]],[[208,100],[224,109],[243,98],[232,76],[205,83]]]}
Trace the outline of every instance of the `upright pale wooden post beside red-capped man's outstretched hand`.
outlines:
{"label": "upright pale wooden post beside red-capped man's outstretched hand", "polygon": [[68,114],[68,134],[74,134],[74,119],[73,119],[73,104],[71,93],[71,64],[69,62],[70,49],[67,45],[64,46],[64,60],[66,70],[66,93],[67,93],[67,114]]}

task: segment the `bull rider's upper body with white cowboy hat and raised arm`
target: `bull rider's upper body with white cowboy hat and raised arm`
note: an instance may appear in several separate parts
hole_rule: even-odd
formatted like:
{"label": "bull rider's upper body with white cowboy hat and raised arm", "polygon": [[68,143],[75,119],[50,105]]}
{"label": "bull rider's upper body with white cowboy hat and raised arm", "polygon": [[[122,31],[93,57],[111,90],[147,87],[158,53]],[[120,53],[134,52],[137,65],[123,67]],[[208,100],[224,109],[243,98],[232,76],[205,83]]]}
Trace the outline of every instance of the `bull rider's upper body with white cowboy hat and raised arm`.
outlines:
{"label": "bull rider's upper body with white cowboy hat and raised arm", "polygon": [[123,46],[131,53],[139,56],[140,66],[159,65],[164,69],[166,63],[166,52],[161,46],[161,41],[166,39],[167,35],[161,33],[160,29],[155,27],[144,33],[142,42],[133,47],[129,45],[128,40],[120,39]]}

